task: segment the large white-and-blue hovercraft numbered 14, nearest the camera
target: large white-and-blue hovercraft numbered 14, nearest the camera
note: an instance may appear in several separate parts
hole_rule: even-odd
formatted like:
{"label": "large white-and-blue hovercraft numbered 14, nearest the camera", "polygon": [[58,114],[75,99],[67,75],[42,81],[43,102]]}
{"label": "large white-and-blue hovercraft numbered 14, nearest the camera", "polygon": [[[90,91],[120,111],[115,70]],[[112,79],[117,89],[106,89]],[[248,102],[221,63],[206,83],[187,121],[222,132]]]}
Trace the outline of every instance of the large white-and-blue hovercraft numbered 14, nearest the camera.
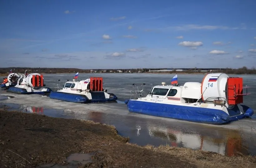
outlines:
{"label": "large white-and-blue hovercraft numbered 14, nearest the camera", "polygon": [[202,83],[186,82],[184,86],[178,85],[176,77],[174,85],[162,82],[152,87],[145,97],[139,90],[134,89],[132,93],[135,98],[125,103],[133,113],[207,124],[228,123],[254,114],[251,108],[242,105],[243,96],[247,95],[243,78],[225,73],[210,73]]}

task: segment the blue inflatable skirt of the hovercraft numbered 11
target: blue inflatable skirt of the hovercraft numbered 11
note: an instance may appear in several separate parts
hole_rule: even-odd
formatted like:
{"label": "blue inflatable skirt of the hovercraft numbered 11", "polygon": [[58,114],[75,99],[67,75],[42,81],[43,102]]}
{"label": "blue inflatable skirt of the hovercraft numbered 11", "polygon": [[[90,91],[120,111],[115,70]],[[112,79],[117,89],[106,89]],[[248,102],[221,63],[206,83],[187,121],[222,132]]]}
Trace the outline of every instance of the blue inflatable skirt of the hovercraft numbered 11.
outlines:
{"label": "blue inflatable skirt of the hovercraft numbered 11", "polygon": [[[95,92],[96,93],[96,92]],[[103,92],[101,92],[103,93]],[[91,94],[94,94],[91,92]],[[60,91],[53,91],[49,95],[51,99],[57,99],[62,101],[74,102],[74,103],[92,103],[92,102],[106,102],[106,101],[115,101],[117,100],[116,95],[110,93],[110,98],[106,99],[105,96],[92,96],[92,100],[88,99],[85,95],[65,93]]]}

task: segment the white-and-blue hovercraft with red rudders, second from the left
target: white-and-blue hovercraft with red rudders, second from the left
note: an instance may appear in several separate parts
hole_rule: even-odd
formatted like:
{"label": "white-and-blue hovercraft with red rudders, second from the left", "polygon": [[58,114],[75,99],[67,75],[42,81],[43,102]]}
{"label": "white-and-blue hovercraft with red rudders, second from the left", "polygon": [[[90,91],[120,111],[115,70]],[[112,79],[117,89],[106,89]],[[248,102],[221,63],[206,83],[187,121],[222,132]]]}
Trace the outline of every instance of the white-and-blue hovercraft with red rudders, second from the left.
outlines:
{"label": "white-and-blue hovercraft with red rudders, second from the left", "polygon": [[8,92],[17,94],[46,94],[52,90],[44,87],[44,78],[42,74],[31,73],[27,77],[17,80],[17,84],[7,89]]}

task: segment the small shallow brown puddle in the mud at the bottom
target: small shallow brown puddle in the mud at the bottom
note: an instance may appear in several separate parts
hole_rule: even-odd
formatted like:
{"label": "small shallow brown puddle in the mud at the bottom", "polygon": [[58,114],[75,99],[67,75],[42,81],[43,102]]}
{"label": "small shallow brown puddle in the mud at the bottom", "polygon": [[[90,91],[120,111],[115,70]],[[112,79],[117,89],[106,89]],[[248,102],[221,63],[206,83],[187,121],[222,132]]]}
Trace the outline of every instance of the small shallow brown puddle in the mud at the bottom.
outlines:
{"label": "small shallow brown puddle in the mud at the bottom", "polygon": [[37,166],[37,168],[76,168],[79,165],[85,165],[92,162],[91,156],[92,155],[86,153],[73,153],[66,158],[67,165],[44,164]]}

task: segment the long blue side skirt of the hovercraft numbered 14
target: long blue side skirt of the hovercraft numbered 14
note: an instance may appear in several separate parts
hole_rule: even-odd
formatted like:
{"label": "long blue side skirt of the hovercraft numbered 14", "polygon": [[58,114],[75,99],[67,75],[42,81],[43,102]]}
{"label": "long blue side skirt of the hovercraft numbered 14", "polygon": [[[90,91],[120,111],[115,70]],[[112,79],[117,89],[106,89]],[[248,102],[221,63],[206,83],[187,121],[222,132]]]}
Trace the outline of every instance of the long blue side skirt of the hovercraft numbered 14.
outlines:
{"label": "long blue side skirt of the hovercraft numbered 14", "polygon": [[128,100],[127,107],[128,110],[133,113],[206,124],[223,124],[230,121],[229,115],[227,113],[216,109],[189,107],[182,105],[168,105],[136,100]]}

